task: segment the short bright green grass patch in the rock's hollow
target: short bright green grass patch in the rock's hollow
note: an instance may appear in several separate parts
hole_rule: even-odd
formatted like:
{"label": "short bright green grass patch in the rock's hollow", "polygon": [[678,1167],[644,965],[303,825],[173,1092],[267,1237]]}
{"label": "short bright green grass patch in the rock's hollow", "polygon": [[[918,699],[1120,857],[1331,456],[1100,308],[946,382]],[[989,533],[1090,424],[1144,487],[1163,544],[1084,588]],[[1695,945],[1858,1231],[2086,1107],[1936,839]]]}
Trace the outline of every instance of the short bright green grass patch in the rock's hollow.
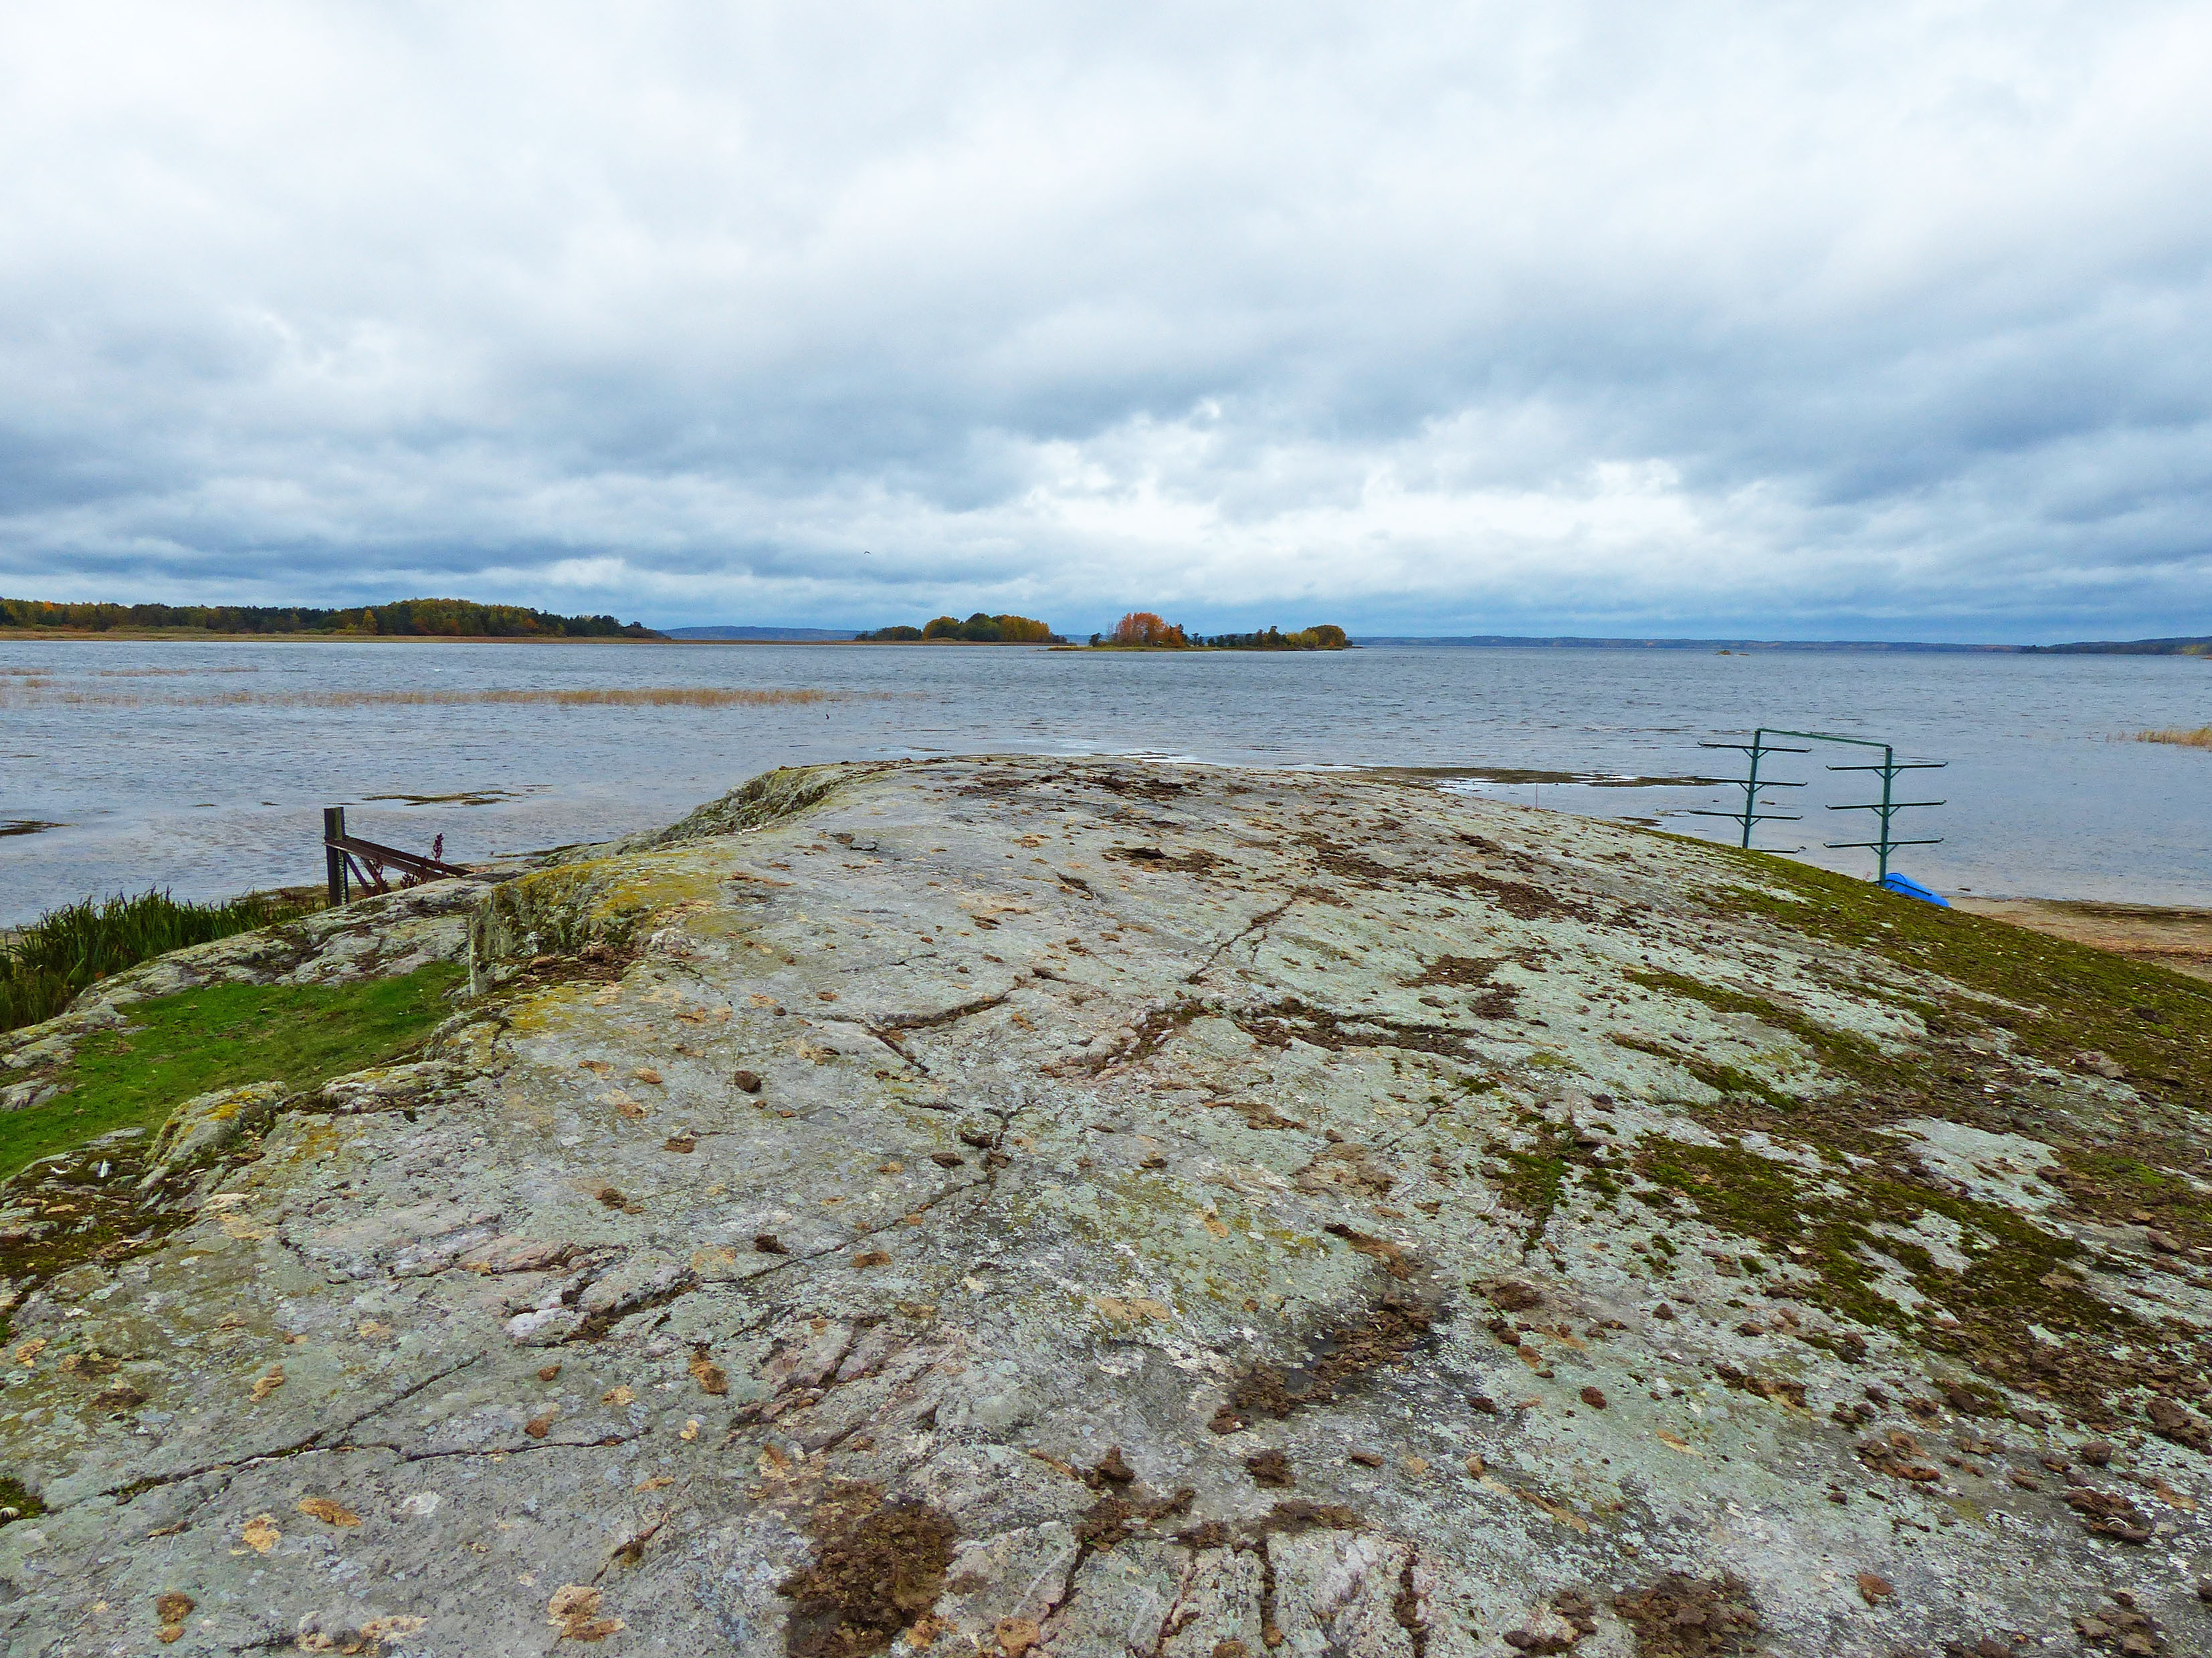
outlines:
{"label": "short bright green grass patch in the rock's hollow", "polygon": [[139,1001],[55,1072],[64,1092],[0,1114],[0,1178],[117,1127],[159,1127],[192,1094],[239,1083],[314,1088],[394,1059],[451,1012],[458,966],[363,984],[210,984]]}

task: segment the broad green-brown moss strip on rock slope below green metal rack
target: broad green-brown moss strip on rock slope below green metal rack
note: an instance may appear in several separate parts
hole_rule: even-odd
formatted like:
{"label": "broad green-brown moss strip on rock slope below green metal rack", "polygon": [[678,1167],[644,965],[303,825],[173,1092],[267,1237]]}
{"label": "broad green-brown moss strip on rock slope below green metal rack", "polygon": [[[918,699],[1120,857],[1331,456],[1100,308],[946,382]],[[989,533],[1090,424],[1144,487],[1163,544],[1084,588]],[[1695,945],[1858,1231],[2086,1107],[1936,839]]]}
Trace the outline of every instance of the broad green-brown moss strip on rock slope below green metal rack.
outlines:
{"label": "broad green-brown moss strip on rock slope below green metal rack", "polygon": [[1714,909],[1871,951],[1975,997],[2015,1004],[1947,997],[1942,1010],[2004,1026],[2042,1059],[2064,1063],[2095,1048],[2177,1103],[2199,1108],[2212,1099],[2212,984],[1984,915],[1918,904],[1823,869],[1756,853],[1723,856],[1803,902],[1734,886],[1705,893]]}

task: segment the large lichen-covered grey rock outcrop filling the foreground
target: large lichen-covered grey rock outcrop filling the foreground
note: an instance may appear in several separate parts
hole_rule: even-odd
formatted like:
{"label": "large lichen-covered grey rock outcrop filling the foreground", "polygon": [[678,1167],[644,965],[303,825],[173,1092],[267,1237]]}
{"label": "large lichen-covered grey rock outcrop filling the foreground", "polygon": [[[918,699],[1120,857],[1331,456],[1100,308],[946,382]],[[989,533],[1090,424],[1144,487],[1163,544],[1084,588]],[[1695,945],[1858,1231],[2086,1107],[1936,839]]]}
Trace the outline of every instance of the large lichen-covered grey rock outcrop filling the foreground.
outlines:
{"label": "large lichen-covered grey rock outcrop filling the foreground", "polygon": [[2212,1643],[2201,984],[1405,783],[978,758],[4,1059],[420,959],[422,1052],[192,1101],[139,1231],[22,1269],[7,1651]]}

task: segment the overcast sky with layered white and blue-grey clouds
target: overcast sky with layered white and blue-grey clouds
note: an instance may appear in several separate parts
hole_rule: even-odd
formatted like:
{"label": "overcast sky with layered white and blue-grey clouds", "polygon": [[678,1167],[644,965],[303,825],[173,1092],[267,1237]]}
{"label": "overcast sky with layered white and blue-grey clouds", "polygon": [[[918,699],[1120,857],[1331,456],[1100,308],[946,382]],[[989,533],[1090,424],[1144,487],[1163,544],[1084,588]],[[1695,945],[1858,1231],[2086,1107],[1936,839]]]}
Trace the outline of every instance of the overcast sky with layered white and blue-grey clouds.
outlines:
{"label": "overcast sky with layered white and blue-grey clouds", "polygon": [[0,9],[0,592],[2212,632],[2212,7]]}

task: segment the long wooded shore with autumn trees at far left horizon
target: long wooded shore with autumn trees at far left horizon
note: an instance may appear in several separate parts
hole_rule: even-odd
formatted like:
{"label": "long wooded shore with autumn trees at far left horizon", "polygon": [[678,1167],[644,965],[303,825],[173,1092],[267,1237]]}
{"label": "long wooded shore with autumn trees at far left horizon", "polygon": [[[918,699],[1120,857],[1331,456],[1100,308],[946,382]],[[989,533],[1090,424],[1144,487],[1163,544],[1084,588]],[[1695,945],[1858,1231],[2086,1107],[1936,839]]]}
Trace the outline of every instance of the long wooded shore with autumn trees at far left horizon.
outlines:
{"label": "long wooded shore with autumn trees at far left horizon", "polygon": [[352,639],[659,639],[639,621],[555,617],[518,604],[398,599],[358,610],[261,604],[46,604],[0,599],[0,630],[64,632],[192,630],[210,634],[321,632]]}

